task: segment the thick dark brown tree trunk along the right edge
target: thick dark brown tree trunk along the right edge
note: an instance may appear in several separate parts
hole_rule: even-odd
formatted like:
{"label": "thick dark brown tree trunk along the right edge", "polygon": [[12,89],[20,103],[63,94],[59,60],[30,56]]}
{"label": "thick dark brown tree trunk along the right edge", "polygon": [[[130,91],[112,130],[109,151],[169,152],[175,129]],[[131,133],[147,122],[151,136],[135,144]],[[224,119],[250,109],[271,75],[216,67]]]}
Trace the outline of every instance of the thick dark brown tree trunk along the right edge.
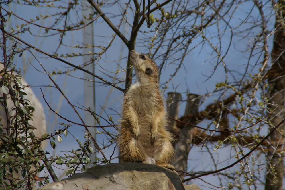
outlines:
{"label": "thick dark brown tree trunk along the right edge", "polygon": [[[270,53],[268,52],[267,45],[267,22],[266,16],[263,11],[263,3],[254,0],[255,5],[257,6],[260,15],[261,15],[261,28],[262,28],[262,36],[263,36],[263,47],[264,47],[264,57],[268,56]],[[273,37],[273,47],[271,51],[271,59],[272,66],[269,70],[268,74],[268,98],[269,98],[269,109],[276,109],[274,114],[272,114],[268,119],[273,124],[278,124],[284,117],[284,90],[285,90],[285,29],[284,29],[284,0],[278,0],[278,3],[275,8],[276,18],[274,25],[274,37]],[[270,129],[270,128],[269,128]],[[279,131],[275,131],[270,136],[271,140],[277,140],[284,137],[285,126],[282,125]],[[270,129],[271,130],[271,129]],[[274,145],[278,146],[279,142],[275,141]],[[284,181],[284,152],[283,154],[276,153],[275,150],[268,151],[268,157],[271,159],[268,160],[267,170],[269,172],[266,173],[265,177],[265,190],[279,190],[284,189],[283,181]]]}

